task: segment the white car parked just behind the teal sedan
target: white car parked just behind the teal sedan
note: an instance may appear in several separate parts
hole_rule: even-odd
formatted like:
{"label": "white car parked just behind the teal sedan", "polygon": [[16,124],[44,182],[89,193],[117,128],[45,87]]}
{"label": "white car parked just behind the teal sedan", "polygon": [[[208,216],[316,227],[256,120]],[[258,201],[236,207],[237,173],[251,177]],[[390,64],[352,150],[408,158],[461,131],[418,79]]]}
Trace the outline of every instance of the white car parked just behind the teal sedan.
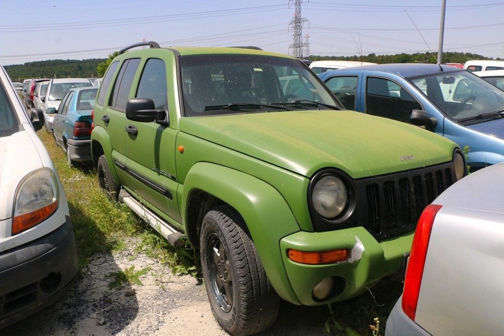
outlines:
{"label": "white car parked just behind the teal sedan", "polygon": [[52,121],[59,107],[61,99],[65,96],[68,90],[75,87],[93,86],[87,78],[58,78],[49,80],[44,104],[42,110],[44,112],[45,130],[52,132]]}

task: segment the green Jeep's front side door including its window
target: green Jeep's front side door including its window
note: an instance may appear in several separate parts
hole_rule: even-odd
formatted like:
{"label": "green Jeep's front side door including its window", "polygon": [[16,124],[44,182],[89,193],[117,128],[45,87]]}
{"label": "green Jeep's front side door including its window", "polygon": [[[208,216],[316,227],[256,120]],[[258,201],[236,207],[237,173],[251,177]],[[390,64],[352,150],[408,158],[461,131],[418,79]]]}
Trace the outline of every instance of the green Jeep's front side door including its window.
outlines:
{"label": "green Jeep's front side door including its window", "polygon": [[[149,58],[142,62],[141,73],[132,87],[130,97],[151,98],[156,109],[168,115],[166,62]],[[176,196],[175,140],[177,130],[168,123],[142,123],[127,120],[125,145],[128,153],[128,171],[135,176],[134,189],[160,215],[181,223]]]}

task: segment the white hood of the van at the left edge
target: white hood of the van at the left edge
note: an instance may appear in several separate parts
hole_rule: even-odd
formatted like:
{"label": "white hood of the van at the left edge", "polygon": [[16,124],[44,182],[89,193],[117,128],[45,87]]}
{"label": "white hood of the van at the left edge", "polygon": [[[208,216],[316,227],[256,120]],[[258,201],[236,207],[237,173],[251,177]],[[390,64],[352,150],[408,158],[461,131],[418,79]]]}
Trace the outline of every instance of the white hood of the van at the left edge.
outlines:
{"label": "white hood of the van at the left edge", "polygon": [[42,165],[26,131],[0,137],[0,220],[12,216],[14,193],[21,179]]}

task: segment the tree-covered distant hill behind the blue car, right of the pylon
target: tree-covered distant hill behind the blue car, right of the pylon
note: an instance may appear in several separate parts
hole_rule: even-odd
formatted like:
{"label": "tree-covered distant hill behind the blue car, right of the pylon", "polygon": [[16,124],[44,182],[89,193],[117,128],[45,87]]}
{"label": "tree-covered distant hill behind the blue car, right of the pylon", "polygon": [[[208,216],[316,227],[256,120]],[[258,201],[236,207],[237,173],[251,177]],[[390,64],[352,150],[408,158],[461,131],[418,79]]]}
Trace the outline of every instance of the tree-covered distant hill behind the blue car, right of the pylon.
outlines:
{"label": "tree-covered distant hill behind the blue car, right of the pylon", "polygon": [[[434,51],[435,57],[437,57],[437,51]],[[354,56],[319,56],[310,55],[308,58],[311,61],[323,61],[323,60],[341,60],[341,61],[361,61],[361,62],[372,62],[378,64],[385,63],[435,63],[435,57],[430,52],[425,53],[396,53],[394,55],[376,55],[370,53],[368,55],[354,55]],[[493,60],[482,55],[469,52],[443,52],[443,63],[466,63],[469,60]],[[501,60],[497,58],[496,60]]]}

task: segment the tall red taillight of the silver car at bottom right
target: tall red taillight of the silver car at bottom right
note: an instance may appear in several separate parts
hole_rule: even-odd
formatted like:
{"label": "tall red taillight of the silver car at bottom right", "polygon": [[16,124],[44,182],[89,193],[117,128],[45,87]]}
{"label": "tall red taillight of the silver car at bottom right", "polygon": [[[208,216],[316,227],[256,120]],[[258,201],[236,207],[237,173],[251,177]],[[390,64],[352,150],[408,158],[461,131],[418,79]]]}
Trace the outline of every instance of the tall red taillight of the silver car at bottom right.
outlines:
{"label": "tall red taillight of the silver car at bottom right", "polygon": [[418,295],[420,294],[420,285],[422,284],[423,268],[425,266],[425,257],[427,256],[432,224],[440,208],[441,205],[436,204],[430,204],[425,207],[418,219],[415,236],[413,237],[411,254],[408,261],[408,268],[406,269],[406,277],[404,279],[402,300],[403,311],[413,321],[415,320]]}

